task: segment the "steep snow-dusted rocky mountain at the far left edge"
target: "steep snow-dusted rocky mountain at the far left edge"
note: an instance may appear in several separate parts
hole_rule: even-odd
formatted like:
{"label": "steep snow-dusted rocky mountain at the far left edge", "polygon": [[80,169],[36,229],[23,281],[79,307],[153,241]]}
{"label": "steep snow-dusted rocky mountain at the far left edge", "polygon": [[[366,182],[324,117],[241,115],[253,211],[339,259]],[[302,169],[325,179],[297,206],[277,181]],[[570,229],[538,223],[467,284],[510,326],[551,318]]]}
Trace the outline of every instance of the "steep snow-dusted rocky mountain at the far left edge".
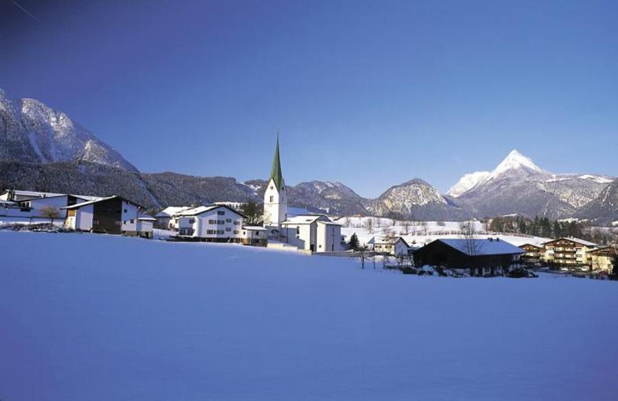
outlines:
{"label": "steep snow-dusted rocky mountain at the far left edge", "polygon": [[0,161],[87,161],[137,172],[119,152],[60,111],[34,99],[10,100],[0,89]]}

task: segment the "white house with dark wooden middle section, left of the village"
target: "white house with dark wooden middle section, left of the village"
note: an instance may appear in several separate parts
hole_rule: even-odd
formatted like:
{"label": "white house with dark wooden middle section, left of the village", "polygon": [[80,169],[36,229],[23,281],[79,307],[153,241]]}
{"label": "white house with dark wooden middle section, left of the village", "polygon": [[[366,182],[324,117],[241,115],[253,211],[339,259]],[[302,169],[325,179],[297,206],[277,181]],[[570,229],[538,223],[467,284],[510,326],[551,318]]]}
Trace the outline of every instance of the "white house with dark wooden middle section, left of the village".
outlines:
{"label": "white house with dark wooden middle section, left of the village", "polygon": [[70,229],[139,236],[139,227],[144,227],[138,227],[141,207],[120,196],[89,200],[62,209],[67,210],[65,226]]}

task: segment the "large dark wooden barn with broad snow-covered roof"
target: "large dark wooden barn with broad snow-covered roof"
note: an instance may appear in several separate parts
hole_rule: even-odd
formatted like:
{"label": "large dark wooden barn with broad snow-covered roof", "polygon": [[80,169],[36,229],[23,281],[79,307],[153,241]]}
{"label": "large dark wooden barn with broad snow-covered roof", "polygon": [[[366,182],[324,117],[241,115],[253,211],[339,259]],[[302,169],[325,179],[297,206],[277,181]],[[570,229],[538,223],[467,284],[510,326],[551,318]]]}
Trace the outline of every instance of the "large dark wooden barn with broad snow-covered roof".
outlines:
{"label": "large dark wooden barn with broad snow-covered roof", "polygon": [[523,253],[523,249],[499,239],[440,239],[414,251],[414,263],[450,268],[460,274],[493,276],[511,271]]}

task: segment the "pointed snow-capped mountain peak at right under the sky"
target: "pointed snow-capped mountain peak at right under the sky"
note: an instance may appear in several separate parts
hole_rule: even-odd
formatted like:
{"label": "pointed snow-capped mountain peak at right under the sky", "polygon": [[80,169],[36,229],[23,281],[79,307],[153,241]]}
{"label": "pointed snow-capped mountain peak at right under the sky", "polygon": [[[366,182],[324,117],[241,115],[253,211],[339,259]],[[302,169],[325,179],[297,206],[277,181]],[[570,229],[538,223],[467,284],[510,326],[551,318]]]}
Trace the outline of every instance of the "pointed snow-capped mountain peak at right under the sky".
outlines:
{"label": "pointed snow-capped mountain peak at right under the sky", "polygon": [[594,174],[553,174],[512,150],[494,170],[462,176],[447,194],[475,216],[562,218],[595,199],[611,181]]}

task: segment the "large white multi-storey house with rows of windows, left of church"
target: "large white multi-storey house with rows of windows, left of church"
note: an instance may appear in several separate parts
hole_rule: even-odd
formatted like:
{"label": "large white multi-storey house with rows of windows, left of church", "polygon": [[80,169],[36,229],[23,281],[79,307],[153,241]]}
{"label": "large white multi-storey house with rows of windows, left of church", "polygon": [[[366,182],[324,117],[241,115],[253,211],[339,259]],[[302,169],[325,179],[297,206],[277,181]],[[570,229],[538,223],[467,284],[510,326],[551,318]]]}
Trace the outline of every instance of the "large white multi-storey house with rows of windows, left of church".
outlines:
{"label": "large white multi-storey house with rows of windows, left of church", "polygon": [[176,214],[178,233],[207,242],[241,242],[246,216],[225,205],[199,206]]}

